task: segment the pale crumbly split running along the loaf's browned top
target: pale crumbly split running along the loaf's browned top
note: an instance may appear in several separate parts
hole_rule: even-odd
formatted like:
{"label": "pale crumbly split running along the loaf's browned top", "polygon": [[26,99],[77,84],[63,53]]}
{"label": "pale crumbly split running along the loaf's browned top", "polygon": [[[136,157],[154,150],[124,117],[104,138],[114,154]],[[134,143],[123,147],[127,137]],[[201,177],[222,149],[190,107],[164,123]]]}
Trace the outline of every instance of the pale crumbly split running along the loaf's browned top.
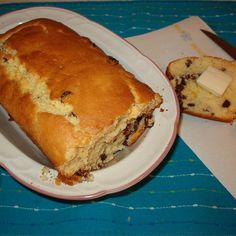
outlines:
{"label": "pale crumbly split running along the loaf's browned top", "polygon": [[29,73],[13,50],[2,46],[1,51],[7,55],[7,57],[2,58],[0,63],[4,66],[9,79],[19,83],[23,94],[28,93],[31,95],[33,102],[38,107],[38,112],[61,115],[73,125],[79,125],[79,119],[73,115],[73,107],[71,105],[64,104],[58,99],[50,99],[49,89],[46,83],[43,82],[44,80],[40,79],[36,74]]}

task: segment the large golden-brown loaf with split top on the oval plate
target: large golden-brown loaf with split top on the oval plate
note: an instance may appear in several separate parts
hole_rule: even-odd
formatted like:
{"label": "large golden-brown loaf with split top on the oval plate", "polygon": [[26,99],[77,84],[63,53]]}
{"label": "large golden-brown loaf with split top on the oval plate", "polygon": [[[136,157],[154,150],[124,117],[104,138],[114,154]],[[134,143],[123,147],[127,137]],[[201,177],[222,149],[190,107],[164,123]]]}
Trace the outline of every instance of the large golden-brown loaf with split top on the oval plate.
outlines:
{"label": "large golden-brown loaf with split top on the oval plate", "polygon": [[49,19],[0,36],[0,104],[62,178],[87,180],[153,125],[158,93]]}

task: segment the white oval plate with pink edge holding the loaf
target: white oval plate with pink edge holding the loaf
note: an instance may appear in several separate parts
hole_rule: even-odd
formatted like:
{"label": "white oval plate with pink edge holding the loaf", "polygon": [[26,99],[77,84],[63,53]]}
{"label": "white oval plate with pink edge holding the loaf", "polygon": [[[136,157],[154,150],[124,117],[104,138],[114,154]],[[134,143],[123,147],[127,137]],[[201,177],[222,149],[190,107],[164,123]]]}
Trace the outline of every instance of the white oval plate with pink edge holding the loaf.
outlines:
{"label": "white oval plate with pink edge holding the loaf", "polygon": [[68,186],[56,183],[57,172],[46,157],[0,108],[0,165],[23,185],[42,194],[70,200],[87,200],[124,190],[146,177],[164,159],[177,133],[179,108],[169,81],[159,68],[132,45],[101,25],[74,12],[51,7],[35,7],[0,17],[0,33],[35,18],[60,21],[89,37],[136,77],[159,92],[164,99],[157,109],[155,125],[132,147],[121,152],[117,162],[94,171],[94,181]]}

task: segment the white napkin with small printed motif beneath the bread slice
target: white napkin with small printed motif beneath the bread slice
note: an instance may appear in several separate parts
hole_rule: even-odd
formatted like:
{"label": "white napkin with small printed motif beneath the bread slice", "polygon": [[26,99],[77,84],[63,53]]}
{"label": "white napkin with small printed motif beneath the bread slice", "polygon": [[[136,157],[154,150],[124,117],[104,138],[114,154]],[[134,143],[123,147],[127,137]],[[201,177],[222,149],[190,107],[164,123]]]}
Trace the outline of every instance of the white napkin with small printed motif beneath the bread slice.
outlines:
{"label": "white napkin with small printed motif beneath the bread slice", "polygon": [[[127,40],[163,72],[170,61],[184,56],[211,55],[232,60],[200,29],[213,32],[202,19],[193,16]],[[236,122],[230,125],[184,114],[179,135],[236,198]]]}

